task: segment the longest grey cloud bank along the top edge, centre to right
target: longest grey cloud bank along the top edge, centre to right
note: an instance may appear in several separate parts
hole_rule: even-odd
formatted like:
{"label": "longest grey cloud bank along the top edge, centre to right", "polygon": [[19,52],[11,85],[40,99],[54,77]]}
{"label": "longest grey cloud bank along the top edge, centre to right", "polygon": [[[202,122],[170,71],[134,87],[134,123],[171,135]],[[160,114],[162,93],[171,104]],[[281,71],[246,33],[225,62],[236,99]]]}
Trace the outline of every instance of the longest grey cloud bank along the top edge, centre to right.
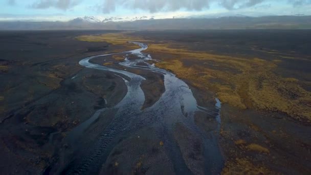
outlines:
{"label": "longest grey cloud bank along the top edge, centre to right", "polygon": [[218,3],[228,10],[252,7],[266,0],[103,0],[101,6],[97,6],[103,13],[110,13],[117,7],[125,9],[140,9],[151,13],[159,11],[176,11],[186,9],[200,11],[208,9],[211,3]]}

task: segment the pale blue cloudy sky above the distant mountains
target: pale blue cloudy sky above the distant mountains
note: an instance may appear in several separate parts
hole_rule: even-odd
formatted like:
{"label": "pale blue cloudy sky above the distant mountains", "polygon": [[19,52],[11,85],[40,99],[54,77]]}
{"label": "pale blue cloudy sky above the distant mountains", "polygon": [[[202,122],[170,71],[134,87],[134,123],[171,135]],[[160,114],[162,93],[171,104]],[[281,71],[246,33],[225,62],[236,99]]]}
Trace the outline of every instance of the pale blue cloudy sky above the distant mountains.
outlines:
{"label": "pale blue cloudy sky above the distant mountains", "polygon": [[81,16],[311,15],[311,0],[0,0],[0,20]]}

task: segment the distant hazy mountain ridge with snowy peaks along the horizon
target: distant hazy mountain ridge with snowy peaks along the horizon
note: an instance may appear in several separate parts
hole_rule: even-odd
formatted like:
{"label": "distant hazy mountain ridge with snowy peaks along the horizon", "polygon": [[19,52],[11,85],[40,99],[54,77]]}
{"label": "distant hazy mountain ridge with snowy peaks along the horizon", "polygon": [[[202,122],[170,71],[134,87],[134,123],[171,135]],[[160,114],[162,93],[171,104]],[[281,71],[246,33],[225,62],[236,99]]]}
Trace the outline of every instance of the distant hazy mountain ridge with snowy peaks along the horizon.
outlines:
{"label": "distant hazy mountain ridge with snowy peaks along the horizon", "polygon": [[84,16],[70,21],[0,21],[0,30],[165,30],[165,29],[311,29],[311,16],[244,15],[214,18],[189,17],[154,19],[153,16],[106,17]]}

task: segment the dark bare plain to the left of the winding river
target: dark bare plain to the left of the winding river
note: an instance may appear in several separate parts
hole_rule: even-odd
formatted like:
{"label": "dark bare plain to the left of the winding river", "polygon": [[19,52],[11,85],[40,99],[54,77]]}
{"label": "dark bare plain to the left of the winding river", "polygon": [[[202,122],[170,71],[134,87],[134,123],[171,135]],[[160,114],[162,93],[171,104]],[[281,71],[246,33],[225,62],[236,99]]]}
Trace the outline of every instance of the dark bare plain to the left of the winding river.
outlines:
{"label": "dark bare plain to the left of the winding river", "polygon": [[[1,32],[2,173],[43,172],[59,146],[52,138],[61,140],[96,110],[126,94],[120,77],[78,64],[87,55],[118,49],[74,39],[104,32]],[[78,78],[72,80],[74,76]]]}

